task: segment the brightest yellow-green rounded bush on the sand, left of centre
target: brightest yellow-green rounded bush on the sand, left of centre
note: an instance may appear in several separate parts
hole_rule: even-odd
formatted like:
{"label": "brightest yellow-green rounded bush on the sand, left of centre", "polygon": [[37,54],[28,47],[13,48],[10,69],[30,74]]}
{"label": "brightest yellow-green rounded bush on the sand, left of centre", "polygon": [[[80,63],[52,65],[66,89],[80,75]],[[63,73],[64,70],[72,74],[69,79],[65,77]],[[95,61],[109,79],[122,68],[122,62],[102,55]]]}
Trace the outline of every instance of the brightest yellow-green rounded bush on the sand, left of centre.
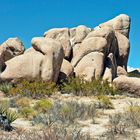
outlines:
{"label": "brightest yellow-green rounded bush on the sand, left of centre", "polygon": [[38,112],[47,112],[48,110],[50,110],[53,107],[53,103],[52,101],[48,100],[48,99],[42,99],[40,101],[38,101],[34,108],[38,111]]}

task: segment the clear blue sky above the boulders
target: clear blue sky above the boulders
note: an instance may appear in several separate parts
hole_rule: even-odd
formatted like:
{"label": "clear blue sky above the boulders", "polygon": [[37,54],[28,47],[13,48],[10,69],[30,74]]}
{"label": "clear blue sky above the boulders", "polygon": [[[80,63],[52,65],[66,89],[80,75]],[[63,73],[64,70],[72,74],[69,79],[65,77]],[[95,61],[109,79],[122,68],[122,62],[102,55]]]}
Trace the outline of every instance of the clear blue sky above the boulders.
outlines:
{"label": "clear blue sky above the boulders", "polygon": [[140,0],[0,0],[0,43],[17,36],[29,48],[50,28],[93,28],[121,13],[132,20],[128,65],[140,68]]}

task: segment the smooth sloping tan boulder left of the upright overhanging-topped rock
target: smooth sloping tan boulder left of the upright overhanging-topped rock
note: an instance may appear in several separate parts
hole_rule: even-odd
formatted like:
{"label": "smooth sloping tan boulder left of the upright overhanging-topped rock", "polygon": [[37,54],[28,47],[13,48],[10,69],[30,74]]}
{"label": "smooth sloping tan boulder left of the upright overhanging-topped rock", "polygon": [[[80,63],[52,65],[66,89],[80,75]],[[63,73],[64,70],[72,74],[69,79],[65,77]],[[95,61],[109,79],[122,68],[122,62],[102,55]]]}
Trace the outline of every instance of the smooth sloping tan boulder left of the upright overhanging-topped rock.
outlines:
{"label": "smooth sloping tan boulder left of the upright overhanging-topped rock", "polygon": [[38,80],[41,77],[44,55],[39,51],[32,50],[20,56],[8,60],[5,70],[1,73],[2,80],[27,79]]}

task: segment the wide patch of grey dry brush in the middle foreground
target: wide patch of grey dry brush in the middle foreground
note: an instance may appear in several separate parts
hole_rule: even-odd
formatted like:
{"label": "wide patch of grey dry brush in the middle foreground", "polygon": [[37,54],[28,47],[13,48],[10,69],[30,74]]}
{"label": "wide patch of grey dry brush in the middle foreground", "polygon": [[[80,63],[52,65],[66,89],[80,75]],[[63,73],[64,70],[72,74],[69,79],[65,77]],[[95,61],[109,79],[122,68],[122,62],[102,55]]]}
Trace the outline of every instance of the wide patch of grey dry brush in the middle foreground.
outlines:
{"label": "wide patch of grey dry brush in the middle foreground", "polygon": [[[34,117],[33,123],[42,123],[44,120],[48,122],[58,122],[73,124],[77,119],[86,120],[94,118],[96,115],[96,106],[94,103],[78,103],[77,101],[55,101],[53,107],[44,113],[44,115],[38,114]],[[42,118],[42,120],[41,120]]]}

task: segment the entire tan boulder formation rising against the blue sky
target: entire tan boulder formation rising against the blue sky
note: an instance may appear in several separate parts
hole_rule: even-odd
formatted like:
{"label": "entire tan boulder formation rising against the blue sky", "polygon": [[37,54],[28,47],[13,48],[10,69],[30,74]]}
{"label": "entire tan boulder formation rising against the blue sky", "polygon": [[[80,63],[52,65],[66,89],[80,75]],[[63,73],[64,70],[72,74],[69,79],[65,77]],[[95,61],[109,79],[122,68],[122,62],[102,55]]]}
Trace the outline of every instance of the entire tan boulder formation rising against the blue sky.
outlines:
{"label": "entire tan boulder formation rising against the blue sky", "polygon": [[127,77],[129,31],[130,17],[121,14],[94,29],[83,25],[51,29],[44,37],[33,38],[25,52],[18,38],[8,39],[0,47],[0,78],[58,82],[75,75],[88,81],[114,80],[118,87],[120,79],[133,83]]}

